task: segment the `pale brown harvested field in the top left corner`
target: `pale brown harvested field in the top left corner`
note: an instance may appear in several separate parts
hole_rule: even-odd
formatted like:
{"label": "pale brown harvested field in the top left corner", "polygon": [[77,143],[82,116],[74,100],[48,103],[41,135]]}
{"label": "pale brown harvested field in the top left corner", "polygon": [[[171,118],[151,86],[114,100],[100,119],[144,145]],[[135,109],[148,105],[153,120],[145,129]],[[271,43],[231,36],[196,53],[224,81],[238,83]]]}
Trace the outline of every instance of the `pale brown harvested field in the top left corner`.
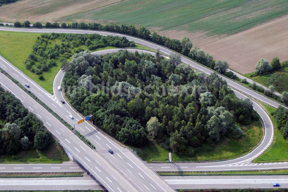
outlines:
{"label": "pale brown harvested field in the top left corner", "polygon": [[22,0],[0,7],[4,22],[54,22],[59,18],[105,7],[122,0]]}

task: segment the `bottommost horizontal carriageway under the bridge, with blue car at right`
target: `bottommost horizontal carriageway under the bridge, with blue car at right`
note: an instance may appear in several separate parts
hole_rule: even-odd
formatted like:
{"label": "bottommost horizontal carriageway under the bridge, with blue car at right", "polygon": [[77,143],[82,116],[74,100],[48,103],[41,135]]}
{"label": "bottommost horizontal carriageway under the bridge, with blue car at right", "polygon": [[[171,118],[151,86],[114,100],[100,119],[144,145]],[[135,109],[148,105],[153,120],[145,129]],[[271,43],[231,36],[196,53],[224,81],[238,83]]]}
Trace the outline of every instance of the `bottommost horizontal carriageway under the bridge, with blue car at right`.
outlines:
{"label": "bottommost horizontal carriageway under the bridge, with blue car at right", "polygon": [[[164,180],[175,189],[233,189],[233,188],[272,188],[273,183],[288,188],[288,176],[163,176]],[[16,189],[103,189],[94,178],[0,178],[0,190]]]}

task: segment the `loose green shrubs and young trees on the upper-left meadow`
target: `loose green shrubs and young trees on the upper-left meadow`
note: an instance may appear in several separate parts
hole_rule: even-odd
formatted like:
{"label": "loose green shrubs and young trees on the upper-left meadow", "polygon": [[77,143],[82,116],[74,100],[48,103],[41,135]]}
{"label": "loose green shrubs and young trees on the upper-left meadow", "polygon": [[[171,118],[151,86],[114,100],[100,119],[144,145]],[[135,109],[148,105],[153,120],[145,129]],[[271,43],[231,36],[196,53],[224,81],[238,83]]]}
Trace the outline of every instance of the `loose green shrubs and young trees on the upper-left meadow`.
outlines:
{"label": "loose green shrubs and young trees on the upper-left meadow", "polygon": [[39,79],[42,80],[42,72],[48,71],[74,53],[84,51],[83,46],[90,50],[105,46],[134,47],[134,42],[129,42],[125,37],[98,34],[42,34],[33,45],[33,52],[26,59],[25,66],[40,75]]}

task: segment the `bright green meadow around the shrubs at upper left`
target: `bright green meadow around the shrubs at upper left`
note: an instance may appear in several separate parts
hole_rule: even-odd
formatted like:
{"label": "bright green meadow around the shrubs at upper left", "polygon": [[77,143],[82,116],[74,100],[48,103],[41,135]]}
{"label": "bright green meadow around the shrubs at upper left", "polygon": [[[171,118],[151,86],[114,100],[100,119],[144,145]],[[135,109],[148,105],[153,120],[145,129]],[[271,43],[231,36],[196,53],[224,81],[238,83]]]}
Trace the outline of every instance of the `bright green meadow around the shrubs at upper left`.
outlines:
{"label": "bright green meadow around the shrubs at upper left", "polygon": [[[38,85],[43,87],[49,93],[53,92],[53,81],[61,68],[61,64],[57,63],[56,66],[49,68],[47,72],[43,72],[44,80],[39,80],[38,75],[26,69],[24,61],[27,59],[28,55],[32,52],[32,47],[37,40],[37,37],[41,33],[29,33],[29,32],[10,32],[10,31],[0,31],[0,55],[12,63],[15,67],[20,69],[25,75],[29,76]],[[55,40],[51,40],[53,44]],[[59,43],[59,42],[58,42]],[[83,49],[87,49],[87,46],[79,46]],[[117,47],[102,47],[98,49],[91,50],[100,51],[104,49],[115,49]],[[154,52],[154,49],[145,47],[143,45],[137,45],[137,49],[145,49]],[[70,58],[71,59],[71,58]]]}

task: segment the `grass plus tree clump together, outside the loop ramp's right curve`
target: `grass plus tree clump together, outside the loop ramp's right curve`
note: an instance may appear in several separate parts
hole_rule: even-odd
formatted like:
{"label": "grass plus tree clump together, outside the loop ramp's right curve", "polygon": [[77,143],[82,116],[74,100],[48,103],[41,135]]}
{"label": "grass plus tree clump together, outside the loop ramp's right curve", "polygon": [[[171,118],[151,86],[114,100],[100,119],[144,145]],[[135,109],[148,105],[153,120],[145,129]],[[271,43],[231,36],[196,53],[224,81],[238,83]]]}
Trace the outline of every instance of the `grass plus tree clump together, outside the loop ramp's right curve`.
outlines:
{"label": "grass plus tree clump together, outside the loop ramp's right curve", "polygon": [[[287,110],[285,112],[282,107],[278,108],[277,112],[274,107],[266,104],[262,104],[262,106],[264,106],[264,108],[268,112],[268,115],[274,125],[274,140],[271,143],[270,147],[268,147],[268,149],[264,151],[264,153],[262,153],[259,157],[257,157],[253,162],[262,163],[288,161],[288,145],[287,141],[285,140],[287,139],[288,123],[286,122],[288,120],[288,112]],[[282,119],[282,117],[284,119]],[[278,122],[281,122],[281,124],[278,125]],[[281,132],[284,133],[285,138],[283,137],[283,133]]]}

